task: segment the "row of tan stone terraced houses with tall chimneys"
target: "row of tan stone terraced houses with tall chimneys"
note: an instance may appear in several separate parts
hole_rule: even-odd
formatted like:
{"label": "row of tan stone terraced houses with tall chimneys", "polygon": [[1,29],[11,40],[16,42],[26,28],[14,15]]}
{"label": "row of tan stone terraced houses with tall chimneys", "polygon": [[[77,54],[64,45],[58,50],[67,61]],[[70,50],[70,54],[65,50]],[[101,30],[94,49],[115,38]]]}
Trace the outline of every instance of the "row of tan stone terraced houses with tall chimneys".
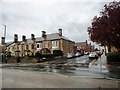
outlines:
{"label": "row of tan stone terraced houses with tall chimneys", "polygon": [[6,46],[6,51],[11,54],[11,56],[32,56],[42,48],[47,48],[51,51],[61,50],[64,55],[67,53],[74,53],[75,42],[69,40],[62,35],[62,29],[58,29],[58,33],[46,34],[42,31],[41,37],[35,37],[31,34],[31,38],[26,38],[25,35],[22,36],[22,41],[18,40],[18,35],[14,34],[14,40],[9,43],[5,43],[5,38],[2,38],[2,44]]}

